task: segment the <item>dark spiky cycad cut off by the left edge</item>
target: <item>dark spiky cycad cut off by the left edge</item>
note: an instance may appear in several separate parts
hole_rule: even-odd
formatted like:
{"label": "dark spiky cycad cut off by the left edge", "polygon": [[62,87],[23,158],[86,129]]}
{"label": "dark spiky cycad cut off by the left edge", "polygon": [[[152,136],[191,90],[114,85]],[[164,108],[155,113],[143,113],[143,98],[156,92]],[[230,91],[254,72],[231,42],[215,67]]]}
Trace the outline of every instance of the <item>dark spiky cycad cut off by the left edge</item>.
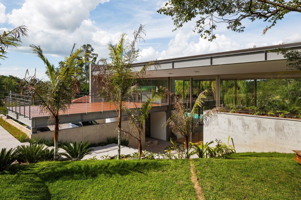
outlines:
{"label": "dark spiky cycad cut off by the left edge", "polygon": [[2,148],[0,152],[0,172],[7,169],[20,156],[20,152],[14,148],[10,148],[8,151],[6,151],[6,148]]}

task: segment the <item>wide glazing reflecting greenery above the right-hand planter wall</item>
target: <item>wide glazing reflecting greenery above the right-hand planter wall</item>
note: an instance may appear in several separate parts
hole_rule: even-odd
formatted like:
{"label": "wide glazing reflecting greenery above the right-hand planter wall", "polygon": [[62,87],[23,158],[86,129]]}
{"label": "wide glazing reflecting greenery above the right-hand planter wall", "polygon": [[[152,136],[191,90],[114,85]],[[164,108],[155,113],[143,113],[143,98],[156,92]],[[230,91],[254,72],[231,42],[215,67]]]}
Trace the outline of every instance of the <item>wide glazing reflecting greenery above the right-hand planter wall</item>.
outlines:
{"label": "wide glazing reflecting greenery above the right-hand planter wall", "polygon": [[301,79],[221,80],[221,106],[301,112]]}

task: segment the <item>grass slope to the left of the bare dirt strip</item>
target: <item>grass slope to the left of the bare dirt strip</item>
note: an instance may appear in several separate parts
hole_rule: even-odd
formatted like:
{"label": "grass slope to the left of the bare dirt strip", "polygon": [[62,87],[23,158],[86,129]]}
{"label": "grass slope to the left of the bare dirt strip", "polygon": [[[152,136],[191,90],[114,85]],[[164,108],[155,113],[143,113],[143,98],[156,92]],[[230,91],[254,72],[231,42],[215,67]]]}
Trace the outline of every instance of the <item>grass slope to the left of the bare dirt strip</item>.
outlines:
{"label": "grass slope to the left of the bare dirt strip", "polygon": [[85,160],[11,166],[0,199],[196,199],[188,160]]}

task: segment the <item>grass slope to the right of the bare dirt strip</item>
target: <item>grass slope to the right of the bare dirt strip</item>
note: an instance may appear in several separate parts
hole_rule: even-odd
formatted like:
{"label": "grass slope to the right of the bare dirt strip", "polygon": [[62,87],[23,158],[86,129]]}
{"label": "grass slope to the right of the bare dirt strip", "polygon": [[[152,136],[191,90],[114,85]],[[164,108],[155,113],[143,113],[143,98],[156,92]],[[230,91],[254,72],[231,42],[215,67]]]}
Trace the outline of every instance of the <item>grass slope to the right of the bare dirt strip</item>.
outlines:
{"label": "grass slope to the right of the bare dirt strip", "polygon": [[296,154],[239,153],[226,159],[195,159],[203,193],[211,199],[301,199]]}

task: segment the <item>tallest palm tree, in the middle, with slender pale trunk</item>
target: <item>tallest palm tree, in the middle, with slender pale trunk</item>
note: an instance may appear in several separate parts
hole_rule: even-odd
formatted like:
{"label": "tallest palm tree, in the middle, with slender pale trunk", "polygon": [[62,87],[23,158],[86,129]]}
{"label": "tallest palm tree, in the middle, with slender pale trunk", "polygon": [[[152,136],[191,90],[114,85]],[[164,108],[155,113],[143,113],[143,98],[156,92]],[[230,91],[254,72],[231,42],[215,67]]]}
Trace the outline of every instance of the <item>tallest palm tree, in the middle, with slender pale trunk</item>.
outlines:
{"label": "tallest palm tree, in the middle, with slender pale trunk", "polygon": [[127,34],[123,33],[119,37],[119,42],[115,45],[109,43],[110,59],[100,59],[95,65],[100,79],[99,96],[106,99],[108,103],[113,104],[118,118],[118,153],[117,159],[120,159],[120,141],[121,141],[121,113],[125,109],[125,102],[139,87],[135,82],[145,77],[146,70],[152,67],[156,70],[160,64],[157,61],[149,61],[140,71],[135,70],[132,64],[139,57],[139,49],[136,48],[140,41],[144,41],[142,35],[145,35],[144,26],[140,25],[137,31],[133,33],[133,40],[127,39]]}

